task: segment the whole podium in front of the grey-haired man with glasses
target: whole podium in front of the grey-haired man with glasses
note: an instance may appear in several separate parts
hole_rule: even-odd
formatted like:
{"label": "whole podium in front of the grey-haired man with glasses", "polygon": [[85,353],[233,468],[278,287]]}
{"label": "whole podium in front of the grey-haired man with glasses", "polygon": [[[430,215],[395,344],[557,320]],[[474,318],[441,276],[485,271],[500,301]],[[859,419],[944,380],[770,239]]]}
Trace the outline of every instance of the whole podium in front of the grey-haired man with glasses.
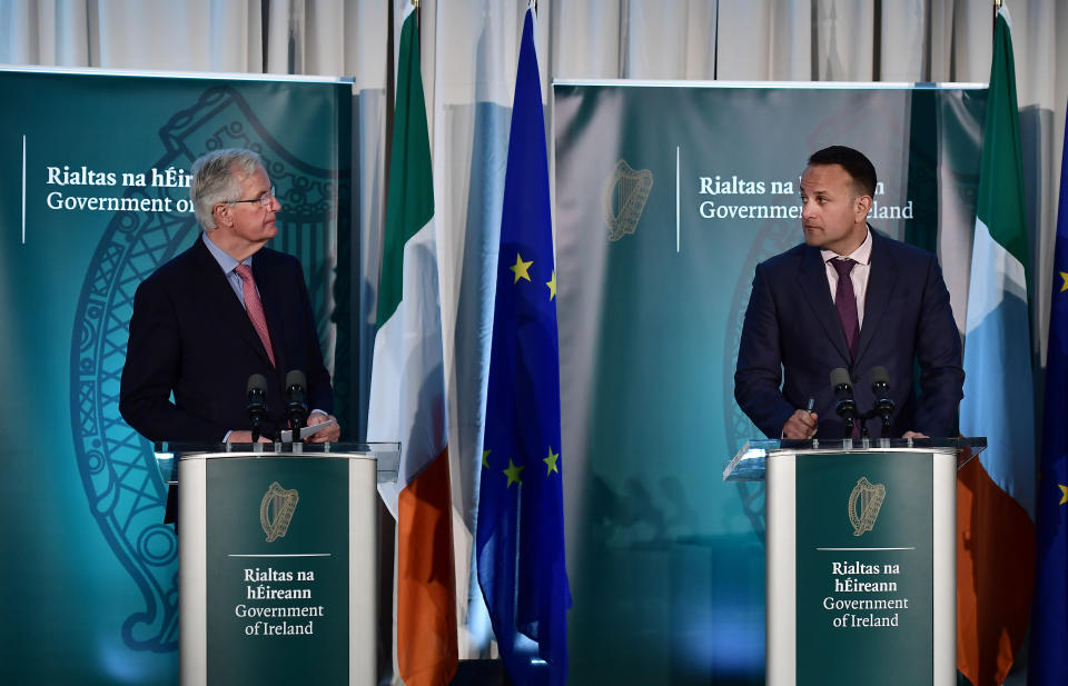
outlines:
{"label": "whole podium in front of the grey-haired man with glasses", "polygon": [[157,444],[178,484],[181,684],[377,682],[377,484],[398,444]]}

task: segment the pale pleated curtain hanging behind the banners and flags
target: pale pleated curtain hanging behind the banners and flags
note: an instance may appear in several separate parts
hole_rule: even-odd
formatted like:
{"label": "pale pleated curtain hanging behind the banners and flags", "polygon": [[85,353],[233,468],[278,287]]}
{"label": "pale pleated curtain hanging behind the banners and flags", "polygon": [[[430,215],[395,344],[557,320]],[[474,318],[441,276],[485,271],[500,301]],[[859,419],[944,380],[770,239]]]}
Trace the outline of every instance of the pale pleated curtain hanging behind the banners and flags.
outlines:
{"label": "pale pleated curtain hanging behind the banners and flags", "polygon": [[[406,0],[0,0],[0,63],[354,78],[356,269],[374,290],[383,227],[387,88]],[[390,8],[392,4],[392,8]],[[423,74],[434,155],[451,402],[457,578],[466,579],[481,464],[492,282],[508,117],[526,0],[423,0]],[[1045,360],[1068,3],[1009,0],[1032,222],[1036,346]],[[554,79],[985,82],[990,0],[541,0],[543,98]],[[390,18],[393,24],[390,27]],[[9,107],[12,103],[8,103]],[[550,110],[551,112],[551,110]],[[373,299],[360,312],[369,350]],[[367,356],[369,357],[369,356]],[[366,367],[366,366],[365,366]],[[368,377],[369,378],[369,377]],[[362,380],[357,380],[360,382]],[[462,655],[485,627],[459,589]]]}

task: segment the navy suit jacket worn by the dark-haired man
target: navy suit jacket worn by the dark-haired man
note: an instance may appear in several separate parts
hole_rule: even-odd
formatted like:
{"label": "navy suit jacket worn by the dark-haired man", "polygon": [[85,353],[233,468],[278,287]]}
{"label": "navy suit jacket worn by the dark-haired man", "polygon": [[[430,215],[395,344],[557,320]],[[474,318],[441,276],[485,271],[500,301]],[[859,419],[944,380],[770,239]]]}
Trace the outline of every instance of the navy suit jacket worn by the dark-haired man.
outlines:
{"label": "navy suit jacket worn by the dark-haired man", "polygon": [[[753,424],[779,438],[795,409],[815,398],[820,438],[842,438],[830,372],[844,367],[853,379],[858,409],[873,405],[872,367],[886,367],[897,402],[891,437],[908,430],[931,437],[956,435],[963,397],[961,345],[933,255],[879,236],[871,246],[857,359],[850,360],[827,271],[818,248],[797,246],[756,266],[734,374],[734,397]],[[919,364],[920,395],[913,390]],[[873,437],[881,424],[870,419]]]}

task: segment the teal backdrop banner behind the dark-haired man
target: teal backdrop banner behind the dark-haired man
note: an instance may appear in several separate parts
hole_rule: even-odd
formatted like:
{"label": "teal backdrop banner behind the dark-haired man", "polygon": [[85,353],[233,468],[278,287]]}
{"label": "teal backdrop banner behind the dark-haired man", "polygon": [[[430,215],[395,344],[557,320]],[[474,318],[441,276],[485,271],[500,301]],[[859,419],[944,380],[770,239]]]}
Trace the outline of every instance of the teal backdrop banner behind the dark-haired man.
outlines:
{"label": "teal backdrop banner behind the dark-haired man", "polygon": [[986,90],[556,83],[574,684],[763,684],[760,437],[733,399],[753,269],[803,240],[798,180],[864,151],[877,230],[937,250],[958,322]]}

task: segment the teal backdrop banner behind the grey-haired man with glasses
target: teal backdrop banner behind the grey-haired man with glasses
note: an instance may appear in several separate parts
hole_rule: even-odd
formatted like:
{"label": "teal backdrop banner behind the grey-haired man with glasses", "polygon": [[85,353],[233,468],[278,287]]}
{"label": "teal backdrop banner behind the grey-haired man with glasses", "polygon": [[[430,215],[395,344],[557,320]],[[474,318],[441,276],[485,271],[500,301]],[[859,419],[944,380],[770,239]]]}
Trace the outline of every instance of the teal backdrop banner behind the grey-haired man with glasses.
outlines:
{"label": "teal backdrop banner behind the grey-haired man with glasses", "polygon": [[199,235],[192,160],[251,148],[273,247],[304,265],[328,365],[347,355],[352,84],[4,70],[0,91],[4,682],[174,684],[176,539],[118,411],[134,292]]}

